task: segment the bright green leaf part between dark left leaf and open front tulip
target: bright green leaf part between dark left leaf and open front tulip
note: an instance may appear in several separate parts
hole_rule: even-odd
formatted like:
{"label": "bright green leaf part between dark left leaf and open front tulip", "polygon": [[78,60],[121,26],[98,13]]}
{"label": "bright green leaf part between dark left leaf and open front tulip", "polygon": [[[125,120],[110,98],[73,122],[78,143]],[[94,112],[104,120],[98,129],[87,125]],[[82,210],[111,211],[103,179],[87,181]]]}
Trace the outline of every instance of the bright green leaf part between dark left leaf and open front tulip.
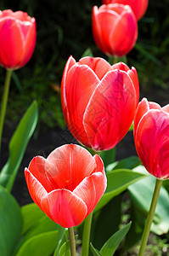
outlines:
{"label": "bright green leaf part between dark left leaf and open front tulip", "polygon": [[30,230],[33,225],[37,224],[39,219],[45,216],[45,213],[35,203],[21,207],[21,214],[23,218],[22,235],[27,230]]}

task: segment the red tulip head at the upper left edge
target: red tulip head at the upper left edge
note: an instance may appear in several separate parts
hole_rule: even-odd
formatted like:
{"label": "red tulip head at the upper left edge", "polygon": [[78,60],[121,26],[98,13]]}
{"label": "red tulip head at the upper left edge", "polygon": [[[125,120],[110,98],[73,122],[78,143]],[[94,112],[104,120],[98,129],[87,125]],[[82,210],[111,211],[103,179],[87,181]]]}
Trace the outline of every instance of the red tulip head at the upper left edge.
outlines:
{"label": "red tulip head at the upper left edge", "polygon": [[0,65],[7,69],[23,67],[36,44],[36,20],[21,11],[0,11]]}

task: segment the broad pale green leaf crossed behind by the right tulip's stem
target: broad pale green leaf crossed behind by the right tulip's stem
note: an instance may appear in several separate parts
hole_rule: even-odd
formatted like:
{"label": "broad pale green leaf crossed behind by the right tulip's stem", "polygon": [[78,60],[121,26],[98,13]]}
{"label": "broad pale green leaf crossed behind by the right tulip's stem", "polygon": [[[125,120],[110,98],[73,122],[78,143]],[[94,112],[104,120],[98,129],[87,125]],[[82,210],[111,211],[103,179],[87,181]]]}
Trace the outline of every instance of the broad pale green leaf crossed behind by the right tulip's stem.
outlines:
{"label": "broad pale green leaf crossed behind by the right tulip's stem", "polygon": [[[147,218],[150,203],[152,200],[155,188],[155,177],[145,177],[144,179],[132,184],[128,187],[132,197],[132,203],[136,212],[139,212],[137,218],[138,223],[144,225]],[[151,231],[157,235],[167,233],[169,230],[169,195],[166,189],[162,186],[157,206],[155,209],[155,217],[151,225]],[[137,217],[137,216],[136,216]]]}

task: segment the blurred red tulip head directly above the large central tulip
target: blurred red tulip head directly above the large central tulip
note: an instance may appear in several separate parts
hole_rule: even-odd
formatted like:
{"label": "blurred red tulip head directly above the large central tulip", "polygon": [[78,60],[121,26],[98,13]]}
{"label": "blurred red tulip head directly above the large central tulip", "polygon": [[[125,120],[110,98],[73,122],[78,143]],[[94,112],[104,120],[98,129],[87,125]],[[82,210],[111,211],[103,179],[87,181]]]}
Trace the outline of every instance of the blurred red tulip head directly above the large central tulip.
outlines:
{"label": "blurred red tulip head directly above the large central tulip", "polygon": [[127,55],[138,38],[138,24],[128,5],[93,7],[93,38],[106,55]]}

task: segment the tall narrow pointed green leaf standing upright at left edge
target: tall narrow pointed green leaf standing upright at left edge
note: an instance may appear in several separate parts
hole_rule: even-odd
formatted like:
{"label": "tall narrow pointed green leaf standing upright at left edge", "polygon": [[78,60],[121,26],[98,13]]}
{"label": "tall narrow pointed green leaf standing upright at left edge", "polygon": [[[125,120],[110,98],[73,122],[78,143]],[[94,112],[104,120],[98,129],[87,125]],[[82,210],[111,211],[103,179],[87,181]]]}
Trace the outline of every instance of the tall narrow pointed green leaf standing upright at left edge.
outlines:
{"label": "tall narrow pointed green leaf standing upright at left edge", "polygon": [[24,156],[25,148],[36,128],[37,119],[37,102],[33,102],[21,119],[16,131],[14,131],[14,135],[9,143],[8,161],[3,166],[0,174],[0,184],[8,189],[8,191],[11,191],[13,188],[14,179]]}

